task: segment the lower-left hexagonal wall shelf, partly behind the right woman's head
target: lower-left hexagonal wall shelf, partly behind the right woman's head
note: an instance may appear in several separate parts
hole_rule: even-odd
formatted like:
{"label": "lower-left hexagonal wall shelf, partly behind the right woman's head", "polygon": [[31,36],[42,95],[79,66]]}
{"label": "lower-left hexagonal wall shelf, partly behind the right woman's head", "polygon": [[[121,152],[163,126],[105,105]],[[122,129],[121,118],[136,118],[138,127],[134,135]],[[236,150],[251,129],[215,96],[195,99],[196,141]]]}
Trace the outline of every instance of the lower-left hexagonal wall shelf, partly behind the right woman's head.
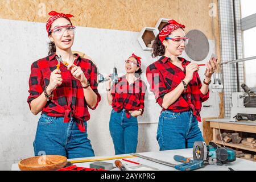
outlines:
{"label": "lower-left hexagonal wall shelf, partly behind the right woman's head", "polygon": [[141,47],[144,51],[152,50],[152,41],[155,40],[156,36],[159,34],[157,28],[153,27],[144,27],[139,33],[138,42],[141,44]]}

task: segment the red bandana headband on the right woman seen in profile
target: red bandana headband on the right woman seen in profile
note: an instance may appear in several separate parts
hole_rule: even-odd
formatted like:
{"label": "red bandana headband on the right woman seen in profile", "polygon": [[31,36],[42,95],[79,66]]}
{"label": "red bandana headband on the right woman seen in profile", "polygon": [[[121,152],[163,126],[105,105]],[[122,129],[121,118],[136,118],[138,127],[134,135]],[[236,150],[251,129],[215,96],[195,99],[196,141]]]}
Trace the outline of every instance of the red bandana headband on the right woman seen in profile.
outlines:
{"label": "red bandana headband on the right woman seen in profile", "polygon": [[182,27],[185,28],[184,24],[177,23],[174,19],[168,21],[168,25],[164,27],[159,33],[159,39],[163,43],[164,39],[171,34],[172,31],[177,30],[178,28]]}

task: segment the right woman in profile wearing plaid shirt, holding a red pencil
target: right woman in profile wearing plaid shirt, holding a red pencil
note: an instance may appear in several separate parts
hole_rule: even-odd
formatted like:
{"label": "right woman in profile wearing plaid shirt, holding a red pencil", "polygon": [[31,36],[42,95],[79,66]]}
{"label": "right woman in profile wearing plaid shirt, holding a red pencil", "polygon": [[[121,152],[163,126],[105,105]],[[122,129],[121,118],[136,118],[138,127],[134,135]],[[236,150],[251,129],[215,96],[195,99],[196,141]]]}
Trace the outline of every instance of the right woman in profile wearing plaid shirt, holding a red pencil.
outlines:
{"label": "right woman in profile wearing plaid shirt, holding a red pencil", "polygon": [[188,38],[183,24],[170,20],[153,44],[152,57],[161,56],[147,67],[146,76],[156,102],[163,108],[158,124],[160,150],[192,148],[204,138],[198,126],[202,102],[209,98],[209,84],[217,69],[216,59],[207,64],[201,83],[199,65],[179,57]]}

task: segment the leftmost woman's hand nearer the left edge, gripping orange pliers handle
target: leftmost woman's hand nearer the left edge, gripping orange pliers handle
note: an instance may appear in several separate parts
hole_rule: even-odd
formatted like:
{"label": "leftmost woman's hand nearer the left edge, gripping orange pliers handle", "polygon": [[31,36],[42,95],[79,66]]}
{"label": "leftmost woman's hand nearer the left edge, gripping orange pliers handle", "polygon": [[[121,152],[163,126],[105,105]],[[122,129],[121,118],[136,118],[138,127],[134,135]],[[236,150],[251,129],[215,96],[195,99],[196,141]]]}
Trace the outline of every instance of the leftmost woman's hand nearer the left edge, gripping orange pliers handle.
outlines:
{"label": "leftmost woman's hand nearer the left edge, gripping orange pliers handle", "polygon": [[53,72],[51,72],[49,85],[47,86],[47,93],[50,95],[54,89],[57,88],[57,86],[60,86],[62,84],[62,78],[60,75],[60,70],[55,69]]}

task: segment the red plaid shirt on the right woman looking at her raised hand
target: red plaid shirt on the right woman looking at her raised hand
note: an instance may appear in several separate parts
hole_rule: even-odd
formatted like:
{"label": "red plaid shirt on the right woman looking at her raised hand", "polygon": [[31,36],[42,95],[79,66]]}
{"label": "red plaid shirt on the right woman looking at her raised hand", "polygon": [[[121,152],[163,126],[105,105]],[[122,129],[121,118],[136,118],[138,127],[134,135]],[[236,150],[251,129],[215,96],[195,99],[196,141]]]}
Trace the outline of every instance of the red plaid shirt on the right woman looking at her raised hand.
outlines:
{"label": "red plaid shirt on the right woman looking at her raised hand", "polygon": [[[183,65],[188,65],[190,61],[179,57]],[[185,68],[182,71],[170,62],[169,57],[162,56],[158,61],[147,67],[146,76],[150,84],[151,92],[154,92],[156,102],[162,107],[163,98],[166,93],[174,90],[181,80],[185,78]],[[168,107],[174,112],[182,112],[192,110],[196,119],[201,122],[200,111],[202,102],[208,100],[209,90],[206,95],[201,93],[201,80],[197,72],[194,72],[192,80],[188,84],[188,89],[185,90],[180,97]]]}

